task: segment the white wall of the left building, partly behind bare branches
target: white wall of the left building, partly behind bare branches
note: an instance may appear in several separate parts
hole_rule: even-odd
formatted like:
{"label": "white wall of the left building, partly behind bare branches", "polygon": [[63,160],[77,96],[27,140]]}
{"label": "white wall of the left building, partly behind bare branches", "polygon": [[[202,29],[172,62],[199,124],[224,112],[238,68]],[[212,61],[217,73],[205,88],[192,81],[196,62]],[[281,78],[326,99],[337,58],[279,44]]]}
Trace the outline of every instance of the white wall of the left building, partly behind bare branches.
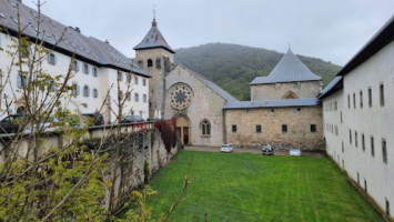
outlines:
{"label": "white wall of the left building, partly behind bare branches", "polygon": [[[11,64],[11,58],[6,53],[6,50],[8,50],[8,46],[13,44],[11,41],[11,38],[4,33],[0,33],[0,48],[3,48],[3,51],[0,51],[0,69],[2,71],[2,82],[1,84],[4,84],[6,82],[6,77],[9,71],[10,64]],[[52,51],[55,56],[55,64],[50,64],[48,63],[47,60],[42,62],[43,65],[43,71],[48,72],[52,77],[54,75],[65,75],[71,62],[71,57]],[[118,70],[112,69],[112,68],[99,68],[94,64],[87,63],[84,61],[75,59],[79,65],[79,71],[74,72],[72,79],[69,81],[69,85],[72,85],[73,83],[77,83],[80,88],[79,94],[73,98],[73,99],[68,99],[68,100],[62,100],[62,105],[70,109],[71,111],[77,111],[79,113],[91,113],[91,112],[97,112],[100,110],[102,107],[107,93],[110,90],[111,84],[113,84],[113,88],[111,89],[110,95],[111,95],[111,107],[117,108],[114,103],[114,99],[118,97],[118,88],[117,88],[117,78],[118,78]],[[82,65],[87,63],[89,73],[84,73],[82,71]],[[93,77],[93,68],[97,68],[98,70],[98,77]],[[127,91],[127,74],[122,72],[123,74],[123,81],[121,81],[121,89],[123,92]],[[17,75],[18,75],[18,68],[13,67],[11,74],[10,74],[10,83],[11,84],[6,84],[2,94],[8,94],[9,97],[13,98],[13,92],[16,92],[17,87]],[[138,84],[134,84],[134,77],[139,79]],[[145,85],[143,85],[143,79],[145,79]],[[127,101],[124,104],[124,111],[127,110],[134,110],[134,114],[142,114],[142,118],[147,119],[149,114],[149,79],[142,75],[137,75],[133,74],[132,78],[132,84],[131,84],[131,100]],[[84,85],[89,87],[89,95],[84,95],[83,93],[83,88]],[[98,98],[93,97],[93,89],[98,90]],[[139,101],[134,101],[134,93],[139,93]],[[147,94],[147,101],[143,101],[143,94]],[[13,101],[18,100],[20,98],[20,93],[16,92],[16,98],[13,98]],[[3,105],[3,95],[1,95],[0,99],[1,105],[0,109],[4,109]],[[118,111],[118,109],[115,109]],[[13,103],[11,109],[11,113],[17,112],[17,107]],[[102,114],[104,114],[105,123],[113,122],[115,120],[114,115],[112,114],[111,118],[109,115],[105,115],[105,112],[109,113],[108,108],[103,108],[100,111]],[[130,113],[130,112],[129,112]],[[0,117],[1,119],[6,115],[6,112],[1,113],[2,115]],[[124,112],[124,114],[128,114]]]}

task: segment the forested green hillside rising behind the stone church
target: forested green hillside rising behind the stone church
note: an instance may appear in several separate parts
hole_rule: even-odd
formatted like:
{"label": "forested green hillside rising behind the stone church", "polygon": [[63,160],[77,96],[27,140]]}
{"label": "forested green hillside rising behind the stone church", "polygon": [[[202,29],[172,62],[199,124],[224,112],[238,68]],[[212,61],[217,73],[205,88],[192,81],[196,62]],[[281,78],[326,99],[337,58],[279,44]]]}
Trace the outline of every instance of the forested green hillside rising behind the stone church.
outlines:
{"label": "forested green hillside rising behind the stone church", "polygon": [[[283,57],[276,51],[239,44],[210,43],[175,50],[175,62],[203,74],[239,100],[250,100],[249,83],[255,77],[267,75]],[[321,59],[299,58],[326,85],[341,67]]]}

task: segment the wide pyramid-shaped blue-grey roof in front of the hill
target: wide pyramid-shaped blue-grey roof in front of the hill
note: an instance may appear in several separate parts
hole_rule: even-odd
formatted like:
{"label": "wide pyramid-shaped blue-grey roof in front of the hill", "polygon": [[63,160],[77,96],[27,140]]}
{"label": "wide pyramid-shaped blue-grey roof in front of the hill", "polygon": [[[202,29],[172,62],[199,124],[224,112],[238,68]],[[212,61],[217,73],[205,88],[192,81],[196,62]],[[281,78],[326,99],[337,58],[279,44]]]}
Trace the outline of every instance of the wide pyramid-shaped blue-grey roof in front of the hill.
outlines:
{"label": "wide pyramid-shaped blue-grey roof in front of the hill", "polygon": [[320,81],[321,77],[311,72],[289,49],[267,77],[257,77],[250,84],[271,84],[280,82]]}

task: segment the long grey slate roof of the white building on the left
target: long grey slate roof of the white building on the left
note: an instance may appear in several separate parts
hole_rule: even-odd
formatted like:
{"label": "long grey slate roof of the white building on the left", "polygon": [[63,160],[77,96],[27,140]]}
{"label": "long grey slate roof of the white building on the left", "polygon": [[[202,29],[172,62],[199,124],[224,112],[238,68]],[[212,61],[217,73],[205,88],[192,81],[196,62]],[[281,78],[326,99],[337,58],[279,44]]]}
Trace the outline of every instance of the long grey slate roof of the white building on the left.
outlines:
{"label": "long grey slate roof of the white building on the left", "polygon": [[[40,14],[39,30],[39,13],[16,0],[0,0],[0,27],[6,28],[2,30],[3,32],[8,31],[12,36],[18,33],[18,6],[21,28],[26,27],[23,34],[29,37],[30,40],[34,41],[38,37],[48,49],[53,49],[70,57],[75,54],[77,59],[88,61],[98,67],[133,71],[138,74],[151,77],[135,65],[131,70],[131,60],[110,43],[92,37],[85,37],[77,28],[65,27],[42,13]],[[38,32],[39,36],[37,34]]]}

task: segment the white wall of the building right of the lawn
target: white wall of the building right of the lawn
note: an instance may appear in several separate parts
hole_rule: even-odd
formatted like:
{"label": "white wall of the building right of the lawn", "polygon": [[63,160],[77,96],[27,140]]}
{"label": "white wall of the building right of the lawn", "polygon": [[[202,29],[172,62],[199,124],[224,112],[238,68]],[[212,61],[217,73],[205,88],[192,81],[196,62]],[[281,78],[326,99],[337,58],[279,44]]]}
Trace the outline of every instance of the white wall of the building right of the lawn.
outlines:
{"label": "white wall of the building right of the lawn", "polygon": [[[366,62],[344,77],[343,90],[323,101],[324,135],[327,153],[385,211],[386,201],[394,214],[394,42],[387,44]],[[384,85],[384,105],[380,104],[380,85]],[[372,107],[368,105],[368,89],[372,90]],[[363,93],[361,108],[360,92]],[[354,99],[355,95],[355,108]],[[350,108],[347,95],[350,97]],[[335,103],[337,111],[327,111]],[[343,112],[343,123],[340,113]],[[333,124],[339,127],[339,135],[330,131]],[[350,141],[352,132],[352,142]],[[355,145],[357,132],[357,147]],[[365,151],[362,135],[364,134]],[[374,138],[372,155],[371,137]],[[387,162],[383,161],[382,140],[386,141]],[[342,153],[342,141],[344,153]],[[344,164],[342,163],[344,161]],[[358,176],[357,176],[358,175]],[[358,178],[358,179],[357,179]],[[365,181],[365,182],[364,182]]]}

